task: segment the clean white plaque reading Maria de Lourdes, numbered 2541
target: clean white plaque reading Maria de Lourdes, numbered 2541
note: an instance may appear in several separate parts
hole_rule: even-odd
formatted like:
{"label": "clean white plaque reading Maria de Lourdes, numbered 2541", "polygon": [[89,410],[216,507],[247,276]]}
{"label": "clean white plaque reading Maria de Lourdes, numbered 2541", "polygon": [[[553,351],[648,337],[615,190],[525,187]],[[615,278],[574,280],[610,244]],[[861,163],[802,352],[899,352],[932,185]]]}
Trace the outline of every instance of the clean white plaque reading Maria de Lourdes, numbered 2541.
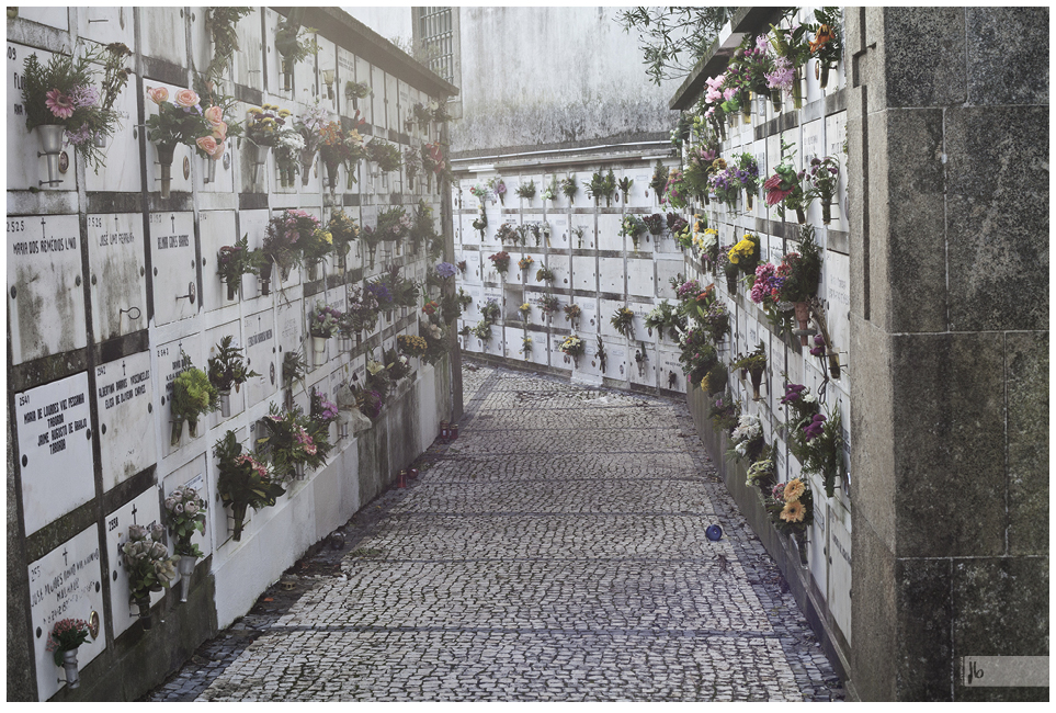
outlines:
{"label": "clean white plaque reading Maria de Lourdes, numbered 2541", "polygon": [[25,533],[95,497],[88,374],[15,394]]}

